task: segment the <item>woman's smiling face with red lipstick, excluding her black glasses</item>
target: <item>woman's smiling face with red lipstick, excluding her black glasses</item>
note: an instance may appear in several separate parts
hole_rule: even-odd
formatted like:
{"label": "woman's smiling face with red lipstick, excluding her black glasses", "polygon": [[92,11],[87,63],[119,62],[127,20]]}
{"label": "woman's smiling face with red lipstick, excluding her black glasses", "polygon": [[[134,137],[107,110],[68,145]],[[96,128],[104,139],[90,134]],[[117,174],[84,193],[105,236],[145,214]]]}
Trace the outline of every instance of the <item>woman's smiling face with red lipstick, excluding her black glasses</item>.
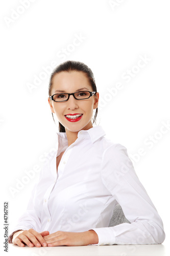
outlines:
{"label": "woman's smiling face with red lipstick, excluding her black glasses", "polygon": [[[79,91],[93,91],[88,78],[83,72],[61,72],[53,77],[51,95]],[[70,95],[69,99],[63,102],[55,102],[48,98],[51,111],[56,114],[58,121],[65,127],[65,130],[71,132],[92,128],[91,118],[93,110],[98,107],[98,101],[99,93],[83,100],[77,100],[73,95]],[[82,114],[82,116],[72,120],[67,116],[75,114]]]}

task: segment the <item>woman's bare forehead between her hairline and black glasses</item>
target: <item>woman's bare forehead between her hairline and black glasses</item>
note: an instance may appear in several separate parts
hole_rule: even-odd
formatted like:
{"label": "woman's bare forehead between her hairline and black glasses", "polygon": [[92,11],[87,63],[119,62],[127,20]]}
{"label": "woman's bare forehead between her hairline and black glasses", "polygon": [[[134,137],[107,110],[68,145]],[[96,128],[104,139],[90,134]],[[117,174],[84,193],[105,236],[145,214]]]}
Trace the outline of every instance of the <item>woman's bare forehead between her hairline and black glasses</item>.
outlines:
{"label": "woman's bare forehead between her hairline and black glasses", "polygon": [[91,85],[86,74],[81,71],[63,71],[53,77],[53,91],[58,89],[65,92],[73,92],[84,87],[91,90]]}

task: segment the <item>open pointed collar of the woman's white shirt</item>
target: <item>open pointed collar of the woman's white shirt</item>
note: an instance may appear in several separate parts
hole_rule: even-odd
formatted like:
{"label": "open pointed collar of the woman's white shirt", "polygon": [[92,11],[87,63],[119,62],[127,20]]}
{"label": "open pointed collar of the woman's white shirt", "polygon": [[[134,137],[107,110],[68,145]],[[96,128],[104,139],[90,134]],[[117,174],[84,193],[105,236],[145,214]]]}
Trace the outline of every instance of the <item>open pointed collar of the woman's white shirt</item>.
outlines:
{"label": "open pointed collar of the woman's white shirt", "polygon": [[[66,133],[57,133],[58,135],[58,142],[59,145],[62,144],[62,146],[68,145],[68,140]],[[89,130],[81,130],[78,132],[78,138],[83,136],[83,137],[90,137],[91,142],[94,143],[96,140],[100,139],[101,137],[105,136],[105,131],[103,130],[102,126],[94,126],[90,128]]]}

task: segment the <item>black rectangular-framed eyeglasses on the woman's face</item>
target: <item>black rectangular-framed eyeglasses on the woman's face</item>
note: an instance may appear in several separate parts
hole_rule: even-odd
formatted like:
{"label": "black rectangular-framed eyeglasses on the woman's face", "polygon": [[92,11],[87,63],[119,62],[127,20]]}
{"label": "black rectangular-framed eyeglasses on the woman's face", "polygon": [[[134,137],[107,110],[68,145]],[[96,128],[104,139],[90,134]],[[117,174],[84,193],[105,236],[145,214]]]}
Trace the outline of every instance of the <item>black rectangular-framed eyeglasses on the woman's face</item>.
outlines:
{"label": "black rectangular-framed eyeglasses on the woman's face", "polygon": [[52,96],[50,96],[51,100],[54,100],[55,102],[62,102],[67,101],[69,99],[70,95],[73,95],[75,99],[81,100],[81,99],[88,99],[91,96],[94,95],[95,92],[89,92],[89,91],[82,91],[82,92],[76,92],[76,93],[57,93]]}

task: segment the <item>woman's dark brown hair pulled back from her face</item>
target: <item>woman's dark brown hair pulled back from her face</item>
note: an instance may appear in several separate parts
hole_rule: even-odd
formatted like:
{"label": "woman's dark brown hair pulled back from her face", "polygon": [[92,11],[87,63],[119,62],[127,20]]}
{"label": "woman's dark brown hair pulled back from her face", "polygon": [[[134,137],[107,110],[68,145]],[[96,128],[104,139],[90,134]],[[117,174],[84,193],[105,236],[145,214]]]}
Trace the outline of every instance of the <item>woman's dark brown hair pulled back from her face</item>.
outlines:
{"label": "woman's dark brown hair pulled back from her face", "polygon": [[[88,68],[88,66],[85,65],[83,62],[74,61],[74,60],[67,60],[67,61],[61,63],[60,65],[58,65],[57,68],[55,68],[55,70],[51,74],[50,84],[48,86],[48,95],[49,95],[49,97],[52,96],[51,91],[52,91],[52,86],[53,86],[53,77],[56,74],[61,73],[63,71],[65,71],[65,72],[70,72],[70,71],[81,71],[81,72],[83,72],[86,75],[86,77],[88,78],[93,92],[97,92],[94,75],[93,75],[91,69]],[[97,114],[98,114],[98,108],[96,108],[96,110],[95,110],[93,123],[95,122]],[[52,113],[52,115],[53,115],[53,113]],[[53,120],[54,120],[54,116],[53,116]],[[54,120],[54,122],[55,122],[55,120]],[[65,132],[65,127],[60,122],[59,122],[59,132]]]}

